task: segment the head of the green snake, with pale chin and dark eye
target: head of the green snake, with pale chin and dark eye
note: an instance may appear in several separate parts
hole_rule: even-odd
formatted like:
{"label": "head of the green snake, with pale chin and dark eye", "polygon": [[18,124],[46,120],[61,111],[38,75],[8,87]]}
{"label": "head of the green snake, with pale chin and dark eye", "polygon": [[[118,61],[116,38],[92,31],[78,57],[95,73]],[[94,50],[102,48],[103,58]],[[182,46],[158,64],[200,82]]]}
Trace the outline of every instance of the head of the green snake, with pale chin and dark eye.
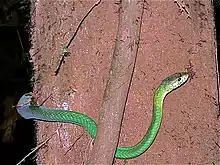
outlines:
{"label": "head of the green snake, with pale chin and dark eye", "polygon": [[175,73],[165,78],[162,81],[161,86],[163,87],[163,90],[166,91],[166,93],[169,93],[172,90],[183,85],[188,80],[188,78],[189,78],[188,72]]}

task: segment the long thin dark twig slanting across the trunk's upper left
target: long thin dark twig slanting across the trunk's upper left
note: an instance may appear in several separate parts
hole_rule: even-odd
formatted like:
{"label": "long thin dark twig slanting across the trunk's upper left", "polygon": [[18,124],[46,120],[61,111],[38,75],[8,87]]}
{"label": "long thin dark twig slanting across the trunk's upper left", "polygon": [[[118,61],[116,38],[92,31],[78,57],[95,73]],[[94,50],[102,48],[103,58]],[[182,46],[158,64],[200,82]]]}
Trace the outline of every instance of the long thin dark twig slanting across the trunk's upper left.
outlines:
{"label": "long thin dark twig slanting across the trunk's upper left", "polygon": [[100,3],[101,3],[101,0],[98,0],[98,1],[90,8],[90,10],[86,13],[86,15],[85,15],[85,16],[83,17],[83,19],[80,21],[79,25],[78,25],[77,28],[76,28],[76,31],[74,32],[74,34],[73,34],[72,38],[70,39],[70,41],[68,42],[68,44],[63,48],[63,51],[62,51],[62,54],[61,54],[61,57],[60,57],[60,60],[59,60],[59,64],[58,64],[58,66],[57,66],[57,68],[56,68],[56,70],[55,70],[55,76],[59,73],[59,70],[60,70],[60,68],[61,68],[61,65],[62,65],[62,63],[64,62],[64,58],[69,55],[69,52],[68,52],[67,49],[69,48],[69,46],[70,46],[71,42],[73,41],[73,39],[76,37],[76,35],[77,35],[78,31],[79,31],[80,26],[82,25],[82,23],[84,22],[84,20],[86,19],[86,17],[88,17],[88,15],[92,12],[92,10],[93,10],[96,6],[98,6]]}

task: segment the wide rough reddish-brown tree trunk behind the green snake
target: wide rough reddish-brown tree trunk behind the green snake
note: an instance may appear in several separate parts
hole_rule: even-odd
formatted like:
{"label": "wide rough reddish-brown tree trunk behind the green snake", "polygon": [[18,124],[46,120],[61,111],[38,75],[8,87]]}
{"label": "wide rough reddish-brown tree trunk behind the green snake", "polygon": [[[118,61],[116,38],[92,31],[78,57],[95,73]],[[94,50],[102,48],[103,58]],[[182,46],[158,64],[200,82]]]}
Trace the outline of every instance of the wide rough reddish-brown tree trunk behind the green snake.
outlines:
{"label": "wide rough reddish-brown tree trunk behind the green snake", "polygon": [[[129,1],[122,2],[125,5],[122,3],[122,9],[114,1],[102,1],[93,9],[70,44],[70,56],[65,57],[57,76],[55,70],[63,47],[96,2],[36,2],[31,50],[36,71],[34,95],[40,104],[52,94],[45,106],[65,108],[64,105],[68,105],[69,109],[87,114],[100,124],[93,146],[90,135],[82,127],[38,122],[38,144],[48,139],[37,153],[39,164],[83,164],[89,158],[91,163],[112,162],[124,106],[119,102],[125,102],[124,96],[130,82],[126,73],[133,69],[137,27],[141,19],[139,7],[142,5],[142,1],[130,1],[131,4]],[[119,146],[134,145],[144,136],[151,121],[153,93],[162,79],[189,68],[196,75],[184,87],[168,96],[156,141],[143,155],[129,160],[129,164],[219,162],[218,74],[213,9],[211,2],[206,0],[177,2],[151,0],[144,3],[139,51]],[[124,11],[121,22],[118,20],[120,10]],[[135,22],[138,15],[140,18]],[[117,40],[117,34],[125,42]],[[121,45],[115,47],[118,42]],[[123,57],[127,59],[119,64],[120,61],[113,55],[118,55],[121,60]],[[114,61],[112,65],[111,61]],[[125,72],[123,68],[128,66],[129,61]],[[116,66],[121,67],[116,68],[120,70],[118,74],[121,73],[121,79],[113,72]],[[106,95],[112,90],[106,89],[109,85],[118,85],[111,96]],[[105,90],[109,100],[103,100]],[[113,100],[113,104],[108,103]],[[116,118],[103,120],[102,117],[110,112]],[[110,131],[112,128],[115,128],[113,134]],[[104,131],[100,132],[102,129]],[[99,145],[102,147],[99,148]],[[124,162],[115,159],[115,163]]]}

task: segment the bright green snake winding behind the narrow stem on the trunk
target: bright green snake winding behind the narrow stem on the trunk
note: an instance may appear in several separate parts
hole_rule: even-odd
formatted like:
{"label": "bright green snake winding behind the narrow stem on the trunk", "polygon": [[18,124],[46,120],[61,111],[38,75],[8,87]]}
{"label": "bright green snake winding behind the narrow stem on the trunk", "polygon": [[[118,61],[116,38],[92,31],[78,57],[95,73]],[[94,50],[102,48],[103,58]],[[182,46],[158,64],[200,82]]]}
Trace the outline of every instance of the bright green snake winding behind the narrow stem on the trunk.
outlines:
{"label": "bright green snake winding behind the narrow stem on the trunk", "polygon": [[[182,72],[165,78],[154,93],[153,115],[150,127],[142,140],[131,147],[118,147],[115,157],[131,159],[143,154],[154,142],[162,121],[163,101],[165,96],[174,89],[183,85],[189,78],[189,73]],[[24,94],[18,104],[17,111],[25,119],[35,119],[47,122],[72,123],[84,127],[93,139],[96,138],[97,124],[89,116],[73,111],[46,108],[33,105],[31,93]]]}

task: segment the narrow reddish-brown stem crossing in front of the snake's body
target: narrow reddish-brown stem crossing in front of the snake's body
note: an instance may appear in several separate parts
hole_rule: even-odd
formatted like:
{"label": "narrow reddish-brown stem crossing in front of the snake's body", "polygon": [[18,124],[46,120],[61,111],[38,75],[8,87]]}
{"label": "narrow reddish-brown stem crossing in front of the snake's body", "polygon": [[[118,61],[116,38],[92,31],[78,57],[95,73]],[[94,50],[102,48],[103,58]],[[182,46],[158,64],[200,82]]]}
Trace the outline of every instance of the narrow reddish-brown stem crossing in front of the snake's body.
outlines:
{"label": "narrow reddish-brown stem crossing in front of the snake's body", "polygon": [[109,80],[89,164],[112,164],[140,40],[144,1],[122,0]]}

